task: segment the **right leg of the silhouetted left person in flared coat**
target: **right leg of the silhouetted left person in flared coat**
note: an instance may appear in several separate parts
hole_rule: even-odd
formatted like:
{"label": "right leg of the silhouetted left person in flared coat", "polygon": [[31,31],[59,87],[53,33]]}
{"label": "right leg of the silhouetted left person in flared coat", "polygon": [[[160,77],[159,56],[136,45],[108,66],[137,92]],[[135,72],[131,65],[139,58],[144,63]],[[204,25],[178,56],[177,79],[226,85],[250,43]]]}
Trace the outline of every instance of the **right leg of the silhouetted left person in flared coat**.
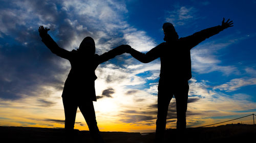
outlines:
{"label": "right leg of the silhouetted left person in flared coat", "polygon": [[89,127],[90,134],[94,139],[95,143],[103,143],[104,140],[100,135],[99,128],[96,122],[95,110],[93,106],[93,101],[83,102],[78,105],[86,123]]}

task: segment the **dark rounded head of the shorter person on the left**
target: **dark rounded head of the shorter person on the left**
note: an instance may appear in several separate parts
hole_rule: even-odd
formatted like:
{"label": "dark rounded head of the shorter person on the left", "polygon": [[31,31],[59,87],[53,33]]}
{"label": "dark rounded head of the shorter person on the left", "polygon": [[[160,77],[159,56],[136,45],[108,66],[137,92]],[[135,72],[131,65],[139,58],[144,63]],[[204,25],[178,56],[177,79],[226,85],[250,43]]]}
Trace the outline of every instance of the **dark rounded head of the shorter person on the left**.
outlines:
{"label": "dark rounded head of the shorter person on the left", "polygon": [[79,48],[79,52],[95,54],[95,42],[92,37],[86,37],[82,40]]}

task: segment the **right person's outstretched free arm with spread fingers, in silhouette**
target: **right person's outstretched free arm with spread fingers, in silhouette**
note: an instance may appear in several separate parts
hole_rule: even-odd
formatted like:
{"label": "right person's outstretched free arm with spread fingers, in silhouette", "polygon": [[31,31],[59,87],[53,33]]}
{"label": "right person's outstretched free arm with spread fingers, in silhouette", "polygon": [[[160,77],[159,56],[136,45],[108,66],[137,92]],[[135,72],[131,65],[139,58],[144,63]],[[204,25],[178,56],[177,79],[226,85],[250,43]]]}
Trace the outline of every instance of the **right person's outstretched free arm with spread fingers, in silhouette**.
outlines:
{"label": "right person's outstretched free arm with spread fingers, in silhouette", "polygon": [[180,38],[180,40],[186,41],[185,44],[187,44],[186,47],[189,47],[190,49],[198,45],[200,42],[204,41],[205,39],[214,36],[218,34],[219,32],[223,31],[225,28],[232,27],[233,21],[229,21],[228,19],[225,22],[225,18],[222,20],[222,24],[210,28],[206,28],[205,30],[202,30],[200,32],[194,33],[191,36]]}

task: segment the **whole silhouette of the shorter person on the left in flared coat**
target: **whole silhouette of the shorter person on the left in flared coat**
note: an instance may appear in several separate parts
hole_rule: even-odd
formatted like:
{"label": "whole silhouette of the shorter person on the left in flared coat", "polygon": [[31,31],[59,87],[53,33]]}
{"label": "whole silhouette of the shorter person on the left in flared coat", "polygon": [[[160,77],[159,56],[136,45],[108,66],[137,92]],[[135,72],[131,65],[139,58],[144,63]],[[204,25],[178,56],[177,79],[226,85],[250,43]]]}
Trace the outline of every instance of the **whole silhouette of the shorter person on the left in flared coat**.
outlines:
{"label": "whole silhouette of the shorter person on the left in flared coat", "polygon": [[47,32],[50,29],[40,26],[38,31],[42,42],[56,55],[67,59],[71,63],[71,70],[62,92],[62,101],[65,110],[66,141],[73,142],[73,130],[77,107],[79,107],[95,142],[104,142],[100,135],[93,101],[96,101],[94,80],[95,69],[100,63],[124,53],[129,45],[121,45],[101,55],[95,54],[93,38],[86,37],[82,40],[77,50],[68,51],[60,48]]}

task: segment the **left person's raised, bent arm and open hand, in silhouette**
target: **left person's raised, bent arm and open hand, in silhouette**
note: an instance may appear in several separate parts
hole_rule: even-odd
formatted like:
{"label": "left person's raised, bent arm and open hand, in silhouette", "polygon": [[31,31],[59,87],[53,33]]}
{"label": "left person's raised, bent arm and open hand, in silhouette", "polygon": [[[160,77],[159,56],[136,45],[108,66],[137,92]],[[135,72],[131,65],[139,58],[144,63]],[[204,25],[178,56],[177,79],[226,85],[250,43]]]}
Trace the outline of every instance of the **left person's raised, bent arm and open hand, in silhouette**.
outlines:
{"label": "left person's raised, bent arm and open hand, in silhouette", "polygon": [[38,28],[38,32],[40,37],[42,38],[42,42],[56,55],[60,56],[61,58],[69,59],[70,51],[60,48],[57,43],[51,38],[47,32],[50,29],[44,28],[44,26],[40,26]]}

